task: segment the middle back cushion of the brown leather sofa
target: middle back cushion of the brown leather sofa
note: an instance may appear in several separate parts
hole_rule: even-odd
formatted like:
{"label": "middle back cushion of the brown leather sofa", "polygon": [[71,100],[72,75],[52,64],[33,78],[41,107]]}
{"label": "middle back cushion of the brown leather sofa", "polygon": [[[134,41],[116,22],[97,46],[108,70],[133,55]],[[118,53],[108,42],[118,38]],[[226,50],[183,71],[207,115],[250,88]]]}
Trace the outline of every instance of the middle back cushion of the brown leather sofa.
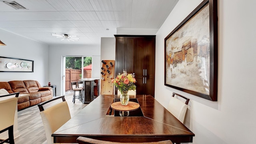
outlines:
{"label": "middle back cushion of the brown leather sofa", "polygon": [[20,94],[29,94],[22,80],[13,80],[8,82],[13,92],[20,92]]}

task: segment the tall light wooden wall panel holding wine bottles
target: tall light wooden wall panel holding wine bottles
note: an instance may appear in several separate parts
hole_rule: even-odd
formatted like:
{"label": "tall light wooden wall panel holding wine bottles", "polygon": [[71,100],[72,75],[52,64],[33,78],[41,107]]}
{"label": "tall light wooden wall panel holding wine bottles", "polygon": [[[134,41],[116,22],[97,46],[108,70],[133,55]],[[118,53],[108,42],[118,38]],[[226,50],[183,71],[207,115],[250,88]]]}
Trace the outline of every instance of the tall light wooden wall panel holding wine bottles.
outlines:
{"label": "tall light wooden wall panel holding wine bottles", "polygon": [[[114,94],[114,86],[111,80],[114,79],[115,61],[103,60],[103,62],[105,62],[105,64],[102,63],[102,68],[104,70],[101,70],[103,73],[101,74],[100,94]],[[110,63],[112,63],[112,66]],[[109,70],[110,74],[107,72],[107,70]]]}

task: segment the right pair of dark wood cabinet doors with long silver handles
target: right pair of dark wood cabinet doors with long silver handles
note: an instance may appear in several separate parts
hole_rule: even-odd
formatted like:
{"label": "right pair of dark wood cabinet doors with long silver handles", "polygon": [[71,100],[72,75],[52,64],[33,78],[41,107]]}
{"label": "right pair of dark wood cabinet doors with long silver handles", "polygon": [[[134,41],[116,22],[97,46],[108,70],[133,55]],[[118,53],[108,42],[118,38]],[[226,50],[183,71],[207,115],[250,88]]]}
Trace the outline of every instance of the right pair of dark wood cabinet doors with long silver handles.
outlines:
{"label": "right pair of dark wood cabinet doors with long silver handles", "polygon": [[137,38],[134,53],[136,93],[154,96],[155,38]]}

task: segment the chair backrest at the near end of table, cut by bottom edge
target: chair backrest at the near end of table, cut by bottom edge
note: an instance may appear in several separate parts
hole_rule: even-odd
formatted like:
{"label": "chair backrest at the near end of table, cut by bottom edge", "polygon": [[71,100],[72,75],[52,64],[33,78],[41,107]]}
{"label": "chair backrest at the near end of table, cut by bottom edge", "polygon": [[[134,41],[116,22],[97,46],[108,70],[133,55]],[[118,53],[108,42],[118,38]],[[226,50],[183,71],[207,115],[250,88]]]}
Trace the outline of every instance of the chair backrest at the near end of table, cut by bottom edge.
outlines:
{"label": "chair backrest at the near end of table, cut by bottom edge", "polygon": [[172,144],[170,140],[164,140],[160,142],[110,142],[104,140],[95,140],[92,138],[78,137],[76,139],[78,144]]}

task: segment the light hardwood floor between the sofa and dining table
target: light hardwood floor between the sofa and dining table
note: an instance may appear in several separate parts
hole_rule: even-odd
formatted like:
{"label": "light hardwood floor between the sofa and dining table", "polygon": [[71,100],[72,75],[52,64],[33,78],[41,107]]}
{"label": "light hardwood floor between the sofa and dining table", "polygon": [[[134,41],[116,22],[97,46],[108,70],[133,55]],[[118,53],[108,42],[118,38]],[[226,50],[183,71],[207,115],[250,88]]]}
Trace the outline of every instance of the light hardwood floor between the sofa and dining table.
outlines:
{"label": "light hardwood floor between the sofa and dining table", "polygon": [[[83,104],[78,99],[73,103],[72,98],[73,95],[65,95],[71,118],[88,105]],[[59,100],[61,101],[61,99]],[[46,104],[45,108],[60,101],[56,100],[56,102]],[[47,144],[42,118],[37,105],[18,111],[18,130],[20,131],[20,136],[14,139],[15,144]]]}

